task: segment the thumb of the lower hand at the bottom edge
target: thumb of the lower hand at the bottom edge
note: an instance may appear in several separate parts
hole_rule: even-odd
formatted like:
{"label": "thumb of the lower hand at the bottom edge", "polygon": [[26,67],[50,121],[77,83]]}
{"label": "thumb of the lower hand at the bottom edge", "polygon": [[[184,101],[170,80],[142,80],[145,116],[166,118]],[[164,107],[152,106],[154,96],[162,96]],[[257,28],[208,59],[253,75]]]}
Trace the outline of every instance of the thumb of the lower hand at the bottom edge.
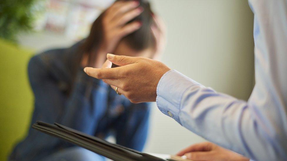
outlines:
{"label": "thumb of the lower hand at the bottom edge", "polygon": [[213,160],[214,153],[211,151],[208,152],[188,152],[184,154],[187,159],[190,160]]}

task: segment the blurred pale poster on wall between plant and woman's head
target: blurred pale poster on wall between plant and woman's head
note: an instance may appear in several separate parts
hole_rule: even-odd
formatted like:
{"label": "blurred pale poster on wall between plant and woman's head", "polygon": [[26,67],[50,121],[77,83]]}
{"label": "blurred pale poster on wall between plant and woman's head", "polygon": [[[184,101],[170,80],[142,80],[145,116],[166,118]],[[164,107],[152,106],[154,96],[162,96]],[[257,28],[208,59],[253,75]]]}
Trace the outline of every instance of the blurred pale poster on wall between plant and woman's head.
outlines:
{"label": "blurred pale poster on wall between plant and woman's head", "polygon": [[38,30],[63,34],[75,41],[89,34],[91,24],[114,0],[47,0]]}

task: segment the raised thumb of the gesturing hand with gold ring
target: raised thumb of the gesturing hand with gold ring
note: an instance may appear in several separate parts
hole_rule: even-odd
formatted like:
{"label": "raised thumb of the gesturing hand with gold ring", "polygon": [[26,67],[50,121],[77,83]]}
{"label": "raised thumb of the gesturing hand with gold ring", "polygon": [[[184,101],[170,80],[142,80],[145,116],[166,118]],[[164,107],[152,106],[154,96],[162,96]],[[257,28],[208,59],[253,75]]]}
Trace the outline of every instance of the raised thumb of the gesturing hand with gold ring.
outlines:
{"label": "raised thumb of the gesturing hand with gold ring", "polygon": [[128,57],[124,55],[114,55],[114,54],[107,54],[107,58],[109,61],[119,66],[133,64],[138,62],[138,60],[140,59],[139,57]]}

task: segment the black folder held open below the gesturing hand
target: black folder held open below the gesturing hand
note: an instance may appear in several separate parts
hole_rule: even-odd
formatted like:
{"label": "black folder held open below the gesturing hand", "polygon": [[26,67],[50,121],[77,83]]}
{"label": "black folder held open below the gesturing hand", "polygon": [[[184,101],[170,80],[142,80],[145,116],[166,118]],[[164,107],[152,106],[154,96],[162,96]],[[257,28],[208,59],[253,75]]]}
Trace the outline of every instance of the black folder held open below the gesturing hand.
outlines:
{"label": "black folder held open below the gesturing hand", "polygon": [[91,150],[99,155],[103,155],[111,160],[163,161],[163,159],[153,155],[142,153],[121,145],[109,143],[106,140],[87,135],[81,131],[74,130],[59,123],[54,123],[53,125],[50,123],[37,121],[32,127],[48,135],[66,140],[70,143]]}

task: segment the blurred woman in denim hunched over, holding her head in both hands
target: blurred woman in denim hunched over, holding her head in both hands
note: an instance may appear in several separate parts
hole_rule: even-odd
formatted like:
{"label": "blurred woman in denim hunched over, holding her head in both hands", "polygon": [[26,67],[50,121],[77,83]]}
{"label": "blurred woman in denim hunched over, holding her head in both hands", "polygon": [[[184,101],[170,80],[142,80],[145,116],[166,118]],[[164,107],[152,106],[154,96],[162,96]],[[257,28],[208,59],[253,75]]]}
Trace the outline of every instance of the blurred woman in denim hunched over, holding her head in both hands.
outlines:
{"label": "blurred woman in denim hunched over, holding her head in both hands", "polygon": [[[31,123],[58,122],[141,151],[148,130],[149,104],[132,104],[86,66],[101,67],[106,53],[153,58],[162,47],[161,32],[146,1],[116,1],[93,23],[85,40],[71,48],[31,58],[29,79],[35,96]],[[69,71],[66,73],[66,71]],[[29,129],[10,160],[104,160],[89,150]]]}

